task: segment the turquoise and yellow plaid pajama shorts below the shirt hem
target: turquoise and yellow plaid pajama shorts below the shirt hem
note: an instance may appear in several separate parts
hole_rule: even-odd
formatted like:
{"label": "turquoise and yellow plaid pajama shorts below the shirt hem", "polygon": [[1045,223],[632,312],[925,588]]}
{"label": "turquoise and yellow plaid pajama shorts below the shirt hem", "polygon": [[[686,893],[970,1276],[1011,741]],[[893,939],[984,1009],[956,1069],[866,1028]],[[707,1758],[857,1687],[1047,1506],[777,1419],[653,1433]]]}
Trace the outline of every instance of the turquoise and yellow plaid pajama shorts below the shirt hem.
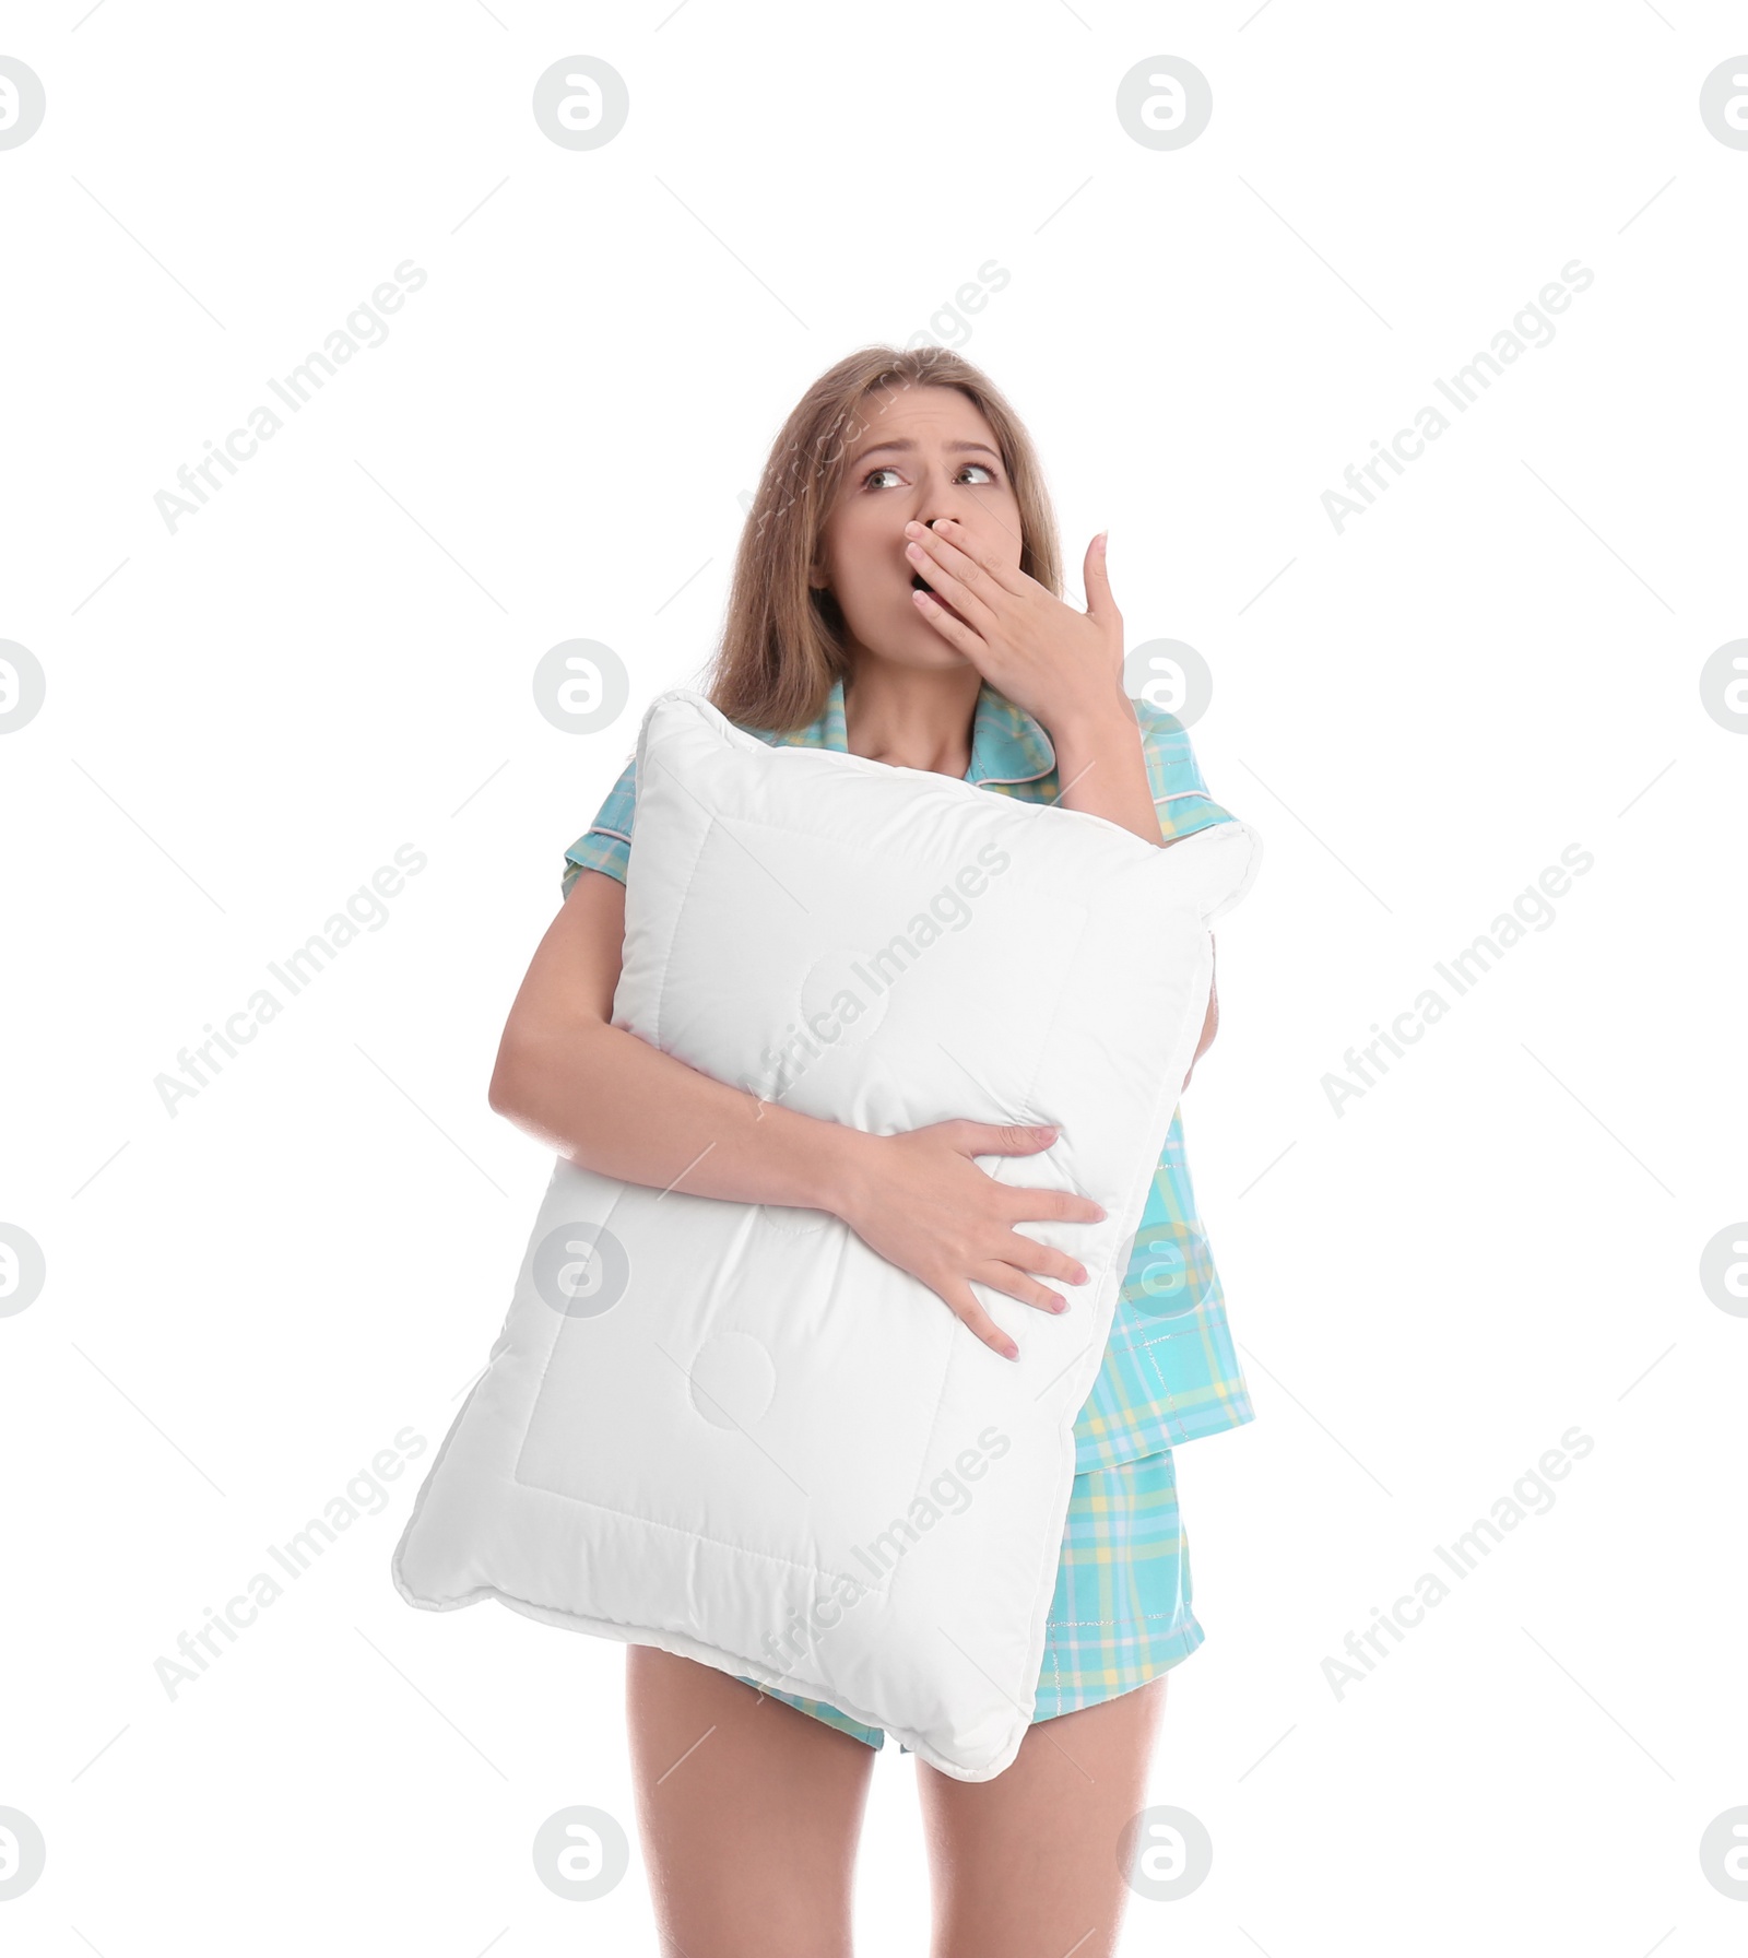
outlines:
{"label": "turquoise and yellow plaid pajama shorts below the shirt hem", "polygon": [[[1077,1474],[1032,1725],[1145,1686],[1204,1637],[1190,1609],[1190,1547],[1171,1449]],[[887,1745],[883,1727],[863,1727],[824,1700],[773,1686],[759,1692],[869,1747]],[[900,1743],[900,1752],[910,1748]]]}

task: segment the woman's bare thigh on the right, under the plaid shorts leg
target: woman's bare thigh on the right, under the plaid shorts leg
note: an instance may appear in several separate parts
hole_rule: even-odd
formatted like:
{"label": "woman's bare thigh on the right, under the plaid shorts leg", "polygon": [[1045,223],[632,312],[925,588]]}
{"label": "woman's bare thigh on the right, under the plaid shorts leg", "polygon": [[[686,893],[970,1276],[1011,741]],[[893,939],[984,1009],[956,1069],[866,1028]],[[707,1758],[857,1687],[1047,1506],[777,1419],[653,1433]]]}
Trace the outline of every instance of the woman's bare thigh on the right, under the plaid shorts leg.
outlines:
{"label": "woman's bare thigh on the right, under the plaid shorts leg", "polygon": [[1110,1958],[1129,1897],[1120,1839],[1147,1805],[1165,1682],[1039,1721],[992,1782],[916,1764],[934,1958]]}

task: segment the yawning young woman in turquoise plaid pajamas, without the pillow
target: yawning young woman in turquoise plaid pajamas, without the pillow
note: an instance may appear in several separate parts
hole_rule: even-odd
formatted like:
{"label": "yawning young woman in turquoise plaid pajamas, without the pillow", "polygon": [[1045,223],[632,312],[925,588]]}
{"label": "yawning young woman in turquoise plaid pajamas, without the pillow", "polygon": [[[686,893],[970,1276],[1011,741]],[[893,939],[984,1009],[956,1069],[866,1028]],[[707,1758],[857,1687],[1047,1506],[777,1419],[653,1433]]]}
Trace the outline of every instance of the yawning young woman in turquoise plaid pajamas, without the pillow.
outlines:
{"label": "yawning young woman in turquoise plaid pajamas, without the pillow", "polygon": [[[1231,820],[1182,726],[1124,693],[1102,536],[1084,582],[1082,613],[1057,595],[1037,460],[990,382],[943,349],[863,349],[814,382],[771,450],[705,691],[767,742],[1084,809],[1161,848]],[[1030,1153],[1051,1132],[953,1120],[867,1136],[759,1104],[615,1028],[634,789],[628,764],[566,854],[566,903],[505,1026],[491,1106],[601,1175],[828,1210],[1014,1357],[971,1282],[1063,1310],[1049,1281],[1079,1284],[1084,1271],[1016,1226],[1102,1212],[1075,1192],[1000,1185],[973,1157]],[[1216,1020],[1210,997],[1198,1057]],[[1171,1445],[1245,1420],[1173,1118],[1075,1427],[1032,1729],[990,1782],[916,1764],[938,1958],[1116,1950],[1118,1844],[1147,1805],[1165,1670],[1204,1637]],[[626,1713],[664,1952],[846,1958],[885,1735],[654,1647],[626,1649]]]}

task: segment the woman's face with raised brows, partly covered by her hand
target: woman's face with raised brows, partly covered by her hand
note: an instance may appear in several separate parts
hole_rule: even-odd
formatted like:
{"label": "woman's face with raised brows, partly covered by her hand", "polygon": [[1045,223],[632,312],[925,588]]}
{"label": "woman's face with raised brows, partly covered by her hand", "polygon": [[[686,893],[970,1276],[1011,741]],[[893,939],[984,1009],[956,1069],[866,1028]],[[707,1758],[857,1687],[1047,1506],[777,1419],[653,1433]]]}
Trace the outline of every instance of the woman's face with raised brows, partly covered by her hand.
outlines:
{"label": "woman's face with raised brows, partly covered by her hand", "polygon": [[879,390],[861,403],[810,572],[838,599],[853,652],[967,664],[910,595],[918,566],[904,556],[904,525],[936,517],[955,517],[979,556],[1020,568],[1020,503],[983,409],[957,388]]}

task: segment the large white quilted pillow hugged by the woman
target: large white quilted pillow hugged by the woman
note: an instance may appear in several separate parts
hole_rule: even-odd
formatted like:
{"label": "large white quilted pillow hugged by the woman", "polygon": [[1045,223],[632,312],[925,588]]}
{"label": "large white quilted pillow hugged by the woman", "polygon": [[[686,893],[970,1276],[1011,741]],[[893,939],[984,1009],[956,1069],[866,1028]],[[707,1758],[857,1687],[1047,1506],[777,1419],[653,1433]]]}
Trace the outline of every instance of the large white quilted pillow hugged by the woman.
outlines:
{"label": "large white quilted pillow hugged by the woman", "polygon": [[1098,1224],[1061,1316],[975,1284],[1020,1359],[822,1210],[662,1192],[558,1159],[491,1363],[393,1555],[480,1598],[703,1660],[1000,1774],[1035,1703],[1127,1253],[1194,1057],[1241,822],[1169,848],[928,769],[771,746],[701,693],[638,736],[613,1024],[871,1134],[1061,1124],[998,1183]]}

